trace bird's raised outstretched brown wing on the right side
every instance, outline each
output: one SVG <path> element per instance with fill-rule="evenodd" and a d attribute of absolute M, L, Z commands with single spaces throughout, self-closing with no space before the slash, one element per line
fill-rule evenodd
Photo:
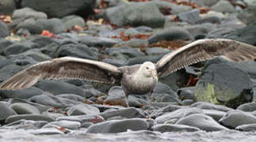
<path fill-rule="evenodd" d="M 232 62 L 256 58 L 256 47 L 231 39 L 200 39 L 166 54 L 156 63 L 158 76 L 165 77 L 193 63 L 222 56 Z"/>

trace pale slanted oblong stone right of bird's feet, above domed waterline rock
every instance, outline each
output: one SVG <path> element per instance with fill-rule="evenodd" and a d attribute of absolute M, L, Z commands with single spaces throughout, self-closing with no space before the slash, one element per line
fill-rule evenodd
<path fill-rule="evenodd" d="M 158 124 L 167 123 L 167 124 L 174 124 L 181 118 L 185 118 L 191 114 L 202 114 L 203 110 L 192 107 L 192 108 L 181 108 L 178 110 L 174 110 L 172 112 L 162 114 L 161 116 L 155 118 L 155 121 Z"/>

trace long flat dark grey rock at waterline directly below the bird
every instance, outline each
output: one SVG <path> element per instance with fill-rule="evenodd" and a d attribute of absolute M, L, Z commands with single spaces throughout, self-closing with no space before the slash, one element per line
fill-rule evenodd
<path fill-rule="evenodd" d="M 121 125 L 121 127 L 120 127 Z M 91 125 L 86 133 L 122 133 L 128 129 L 132 131 L 146 130 L 149 125 L 143 119 L 132 118 L 125 120 L 112 120 Z"/>

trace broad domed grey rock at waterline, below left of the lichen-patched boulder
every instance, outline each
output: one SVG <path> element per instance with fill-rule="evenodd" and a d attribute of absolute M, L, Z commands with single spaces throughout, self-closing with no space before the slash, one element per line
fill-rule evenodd
<path fill-rule="evenodd" d="M 185 118 L 181 118 L 176 122 L 176 124 L 197 127 L 207 132 L 227 129 L 205 114 L 191 114 Z"/>

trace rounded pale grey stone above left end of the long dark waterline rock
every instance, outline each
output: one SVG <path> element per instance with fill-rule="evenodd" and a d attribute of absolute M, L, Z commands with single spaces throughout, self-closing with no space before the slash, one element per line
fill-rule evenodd
<path fill-rule="evenodd" d="M 97 109 L 97 107 L 92 107 L 87 104 L 79 104 L 74 107 L 71 107 L 67 110 L 67 115 L 95 115 L 99 114 L 100 110 Z"/>

